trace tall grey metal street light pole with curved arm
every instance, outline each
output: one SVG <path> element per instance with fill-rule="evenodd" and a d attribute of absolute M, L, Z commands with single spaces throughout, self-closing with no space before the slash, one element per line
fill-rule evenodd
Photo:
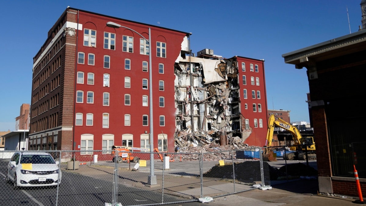
<path fill-rule="evenodd" d="M 152 83 L 152 55 L 151 55 L 151 29 L 149 27 L 149 40 L 142 36 L 142 34 L 136 32 L 135 30 L 128 28 L 126 26 L 122 26 L 118 23 L 107 22 L 107 26 L 113 28 L 123 27 L 131 30 L 132 32 L 137 33 L 141 36 L 145 41 L 149 43 L 149 116 L 150 116 L 150 133 L 149 133 L 149 141 L 150 141 L 150 176 L 147 178 L 148 185 L 156 185 L 156 176 L 154 175 L 154 135 L 153 135 L 153 83 Z"/>

